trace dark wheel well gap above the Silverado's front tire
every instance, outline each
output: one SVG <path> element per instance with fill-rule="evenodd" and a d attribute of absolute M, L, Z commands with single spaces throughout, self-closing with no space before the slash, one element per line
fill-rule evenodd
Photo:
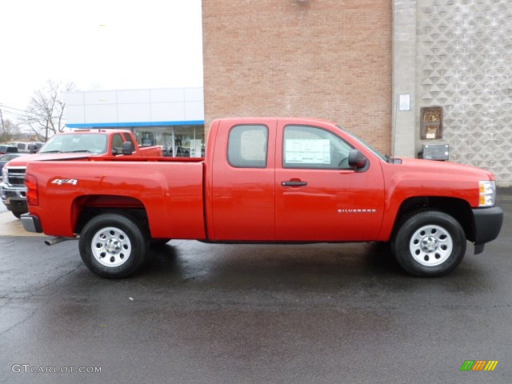
<path fill-rule="evenodd" d="M 451 197 L 413 197 L 402 203 L 398 210 L 397 218 L 406 218 L 413 212 L 424 209 L 439 210 L 452 216 L 464 229 L 466 238 L 470 241 L 475 239 L 473 214 L 471 206 L 467 201 Z"/>

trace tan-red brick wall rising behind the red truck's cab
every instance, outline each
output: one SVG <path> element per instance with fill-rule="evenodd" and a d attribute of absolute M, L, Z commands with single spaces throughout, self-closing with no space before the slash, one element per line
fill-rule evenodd
<path fill-rule="evenodd" d="M 305 116 L 391 150 L 391 0 L 203 0 L 205 123 Z"/>

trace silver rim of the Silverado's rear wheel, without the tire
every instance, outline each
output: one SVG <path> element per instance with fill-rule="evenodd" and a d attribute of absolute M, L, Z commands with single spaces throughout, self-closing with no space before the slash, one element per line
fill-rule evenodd
<path fill-rule="evenodd" d="M 115 268 L 130 259 L 132 243 L 121 229 L 105 227 L 94 234 L 91 250 L 98 263 L 105 267 Z"/>

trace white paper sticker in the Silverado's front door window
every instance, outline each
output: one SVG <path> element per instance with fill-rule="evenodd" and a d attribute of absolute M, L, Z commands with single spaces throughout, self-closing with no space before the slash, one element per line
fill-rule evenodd
<path fill-rule="evenodd" d="M 330 164 L 331 151 L 328 139 L 286 139 L 287 164 Z"/>

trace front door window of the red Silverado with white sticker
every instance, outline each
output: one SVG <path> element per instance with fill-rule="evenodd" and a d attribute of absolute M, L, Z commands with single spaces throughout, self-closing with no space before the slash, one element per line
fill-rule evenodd
<path fill-rule="evenodd" d="M 287 125 L 284 131 L 283 167 L 345 169 L 352 146 L 324 129 Z"/>

